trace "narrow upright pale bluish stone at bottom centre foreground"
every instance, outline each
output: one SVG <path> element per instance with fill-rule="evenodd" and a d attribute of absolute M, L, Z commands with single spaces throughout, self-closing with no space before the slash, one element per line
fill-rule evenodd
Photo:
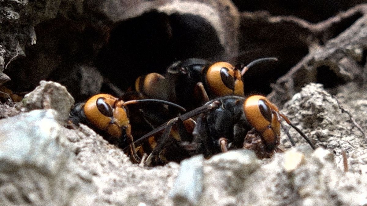
<path fill-rule="evenodd" d="M 181 162 L 181 169 L 170 196 L 175 205 L 197 205 L 203 190 L 204 156 L 198 155 Z"/>

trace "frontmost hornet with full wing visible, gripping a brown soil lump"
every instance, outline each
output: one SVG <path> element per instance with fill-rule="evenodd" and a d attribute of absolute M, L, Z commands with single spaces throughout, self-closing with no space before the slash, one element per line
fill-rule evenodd
<path fill-rule="evenodd" d="M 187 131 L 186 128 L 190 127 L 183 123 L 197 115 L 199 116 L 194 128 Z M 142 136 L 134 144 L 138 150 L 144 147 L 144 152 L 150 152 L 145 161 L 146 165 L 162 162 L 162 157 L 165 161 L 170 161 L 166 158 L 166 150 L 171 147 L 180 148 L 187 153 L 187 156 L 204 154 L 207 158 L 228 149 L 249 148 L 255 150 L 259 158 L 268 158 L 274 152 L 281 151 L 278 148 L 281 127 L 291 140 L 287 129 L 281 124 L 282 118 L 315 149 L 308 137 L 281 114 L 273 103 L 261 95 L 247 98 L 225 96 L 211 100 L 204 106 L 171 119 Z M 175 130 L 178 132 L 175 132 L 179 135 L 171 134 L 173 126 L 177 127 Z M 157 133 L 162 134 L 157 137 Z M 124 149 L 125 152 L 128 152 L 127 148 Z"/>

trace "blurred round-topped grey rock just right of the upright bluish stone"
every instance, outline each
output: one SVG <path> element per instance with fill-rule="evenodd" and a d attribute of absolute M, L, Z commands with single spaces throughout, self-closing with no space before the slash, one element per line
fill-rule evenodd
<path fill-rule="evenodd" d="M 246 187 L 260 161 L 250 150 L 214 155 L 204 164 L 204 187 L 199 205 L 236 205 L 236 194 Z"/>

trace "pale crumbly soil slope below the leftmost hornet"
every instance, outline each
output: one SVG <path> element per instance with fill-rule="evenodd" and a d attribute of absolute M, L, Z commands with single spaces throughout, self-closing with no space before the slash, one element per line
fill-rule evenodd
<path fill-rule="evenodd" d="M 76 154 L 77 173 L 97 185 L 85 196 L 75 196 L 72 204 L 172 205 L 169 190 L 178 174 L 177 163 L 155 168 L 132 164 L 120 148 L 109 144 L 87 126 L 63 129 L 61 144 Z"/>

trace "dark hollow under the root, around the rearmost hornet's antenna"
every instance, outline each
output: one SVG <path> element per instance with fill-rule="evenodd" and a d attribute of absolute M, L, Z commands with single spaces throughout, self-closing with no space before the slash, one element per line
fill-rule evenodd
<path fill-rule="evenodd" d="M 244 78 L 245 93 L 268 94 L 271 83 L 287 73 L 308 54 L 308 45 L 302 41 L 302 35 L 308 31 L 292 22 L 271 24 L 261 19 L 248 24 L 244 16 L 240 27 L 240 54 L 245 52 L 244 63 L 264 57 L 276 57 L 276 63 L 258 65 L 248 70 Z M 241 60 L 240 60 L 241 61 Z"/>

